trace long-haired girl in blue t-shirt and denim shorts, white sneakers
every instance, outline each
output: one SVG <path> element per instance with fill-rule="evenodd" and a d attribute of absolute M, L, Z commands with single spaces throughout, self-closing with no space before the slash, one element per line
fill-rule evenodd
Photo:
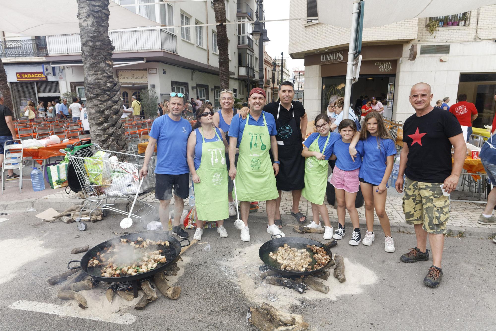
<path fill-rule="evenodd" d="M 367 233 L 362 244 L 371 246 L 375 240 L 373 233 L 373 210 L 375 207 L 375 213 L 385 235 L 384 250 L 392 253 L 395 248 L 385 208 L 387 181 L 393 168 L 396 146 L 379 113 L 367 114 L 364 125 L 365 130 L 362 130 L 360 134 L 360 141 L 364 144 L 362 154 L 364 159 L 359 178 L 365 200 Z M 353 148 L 353 144 L 351 144 L 351 148 Z"/>

